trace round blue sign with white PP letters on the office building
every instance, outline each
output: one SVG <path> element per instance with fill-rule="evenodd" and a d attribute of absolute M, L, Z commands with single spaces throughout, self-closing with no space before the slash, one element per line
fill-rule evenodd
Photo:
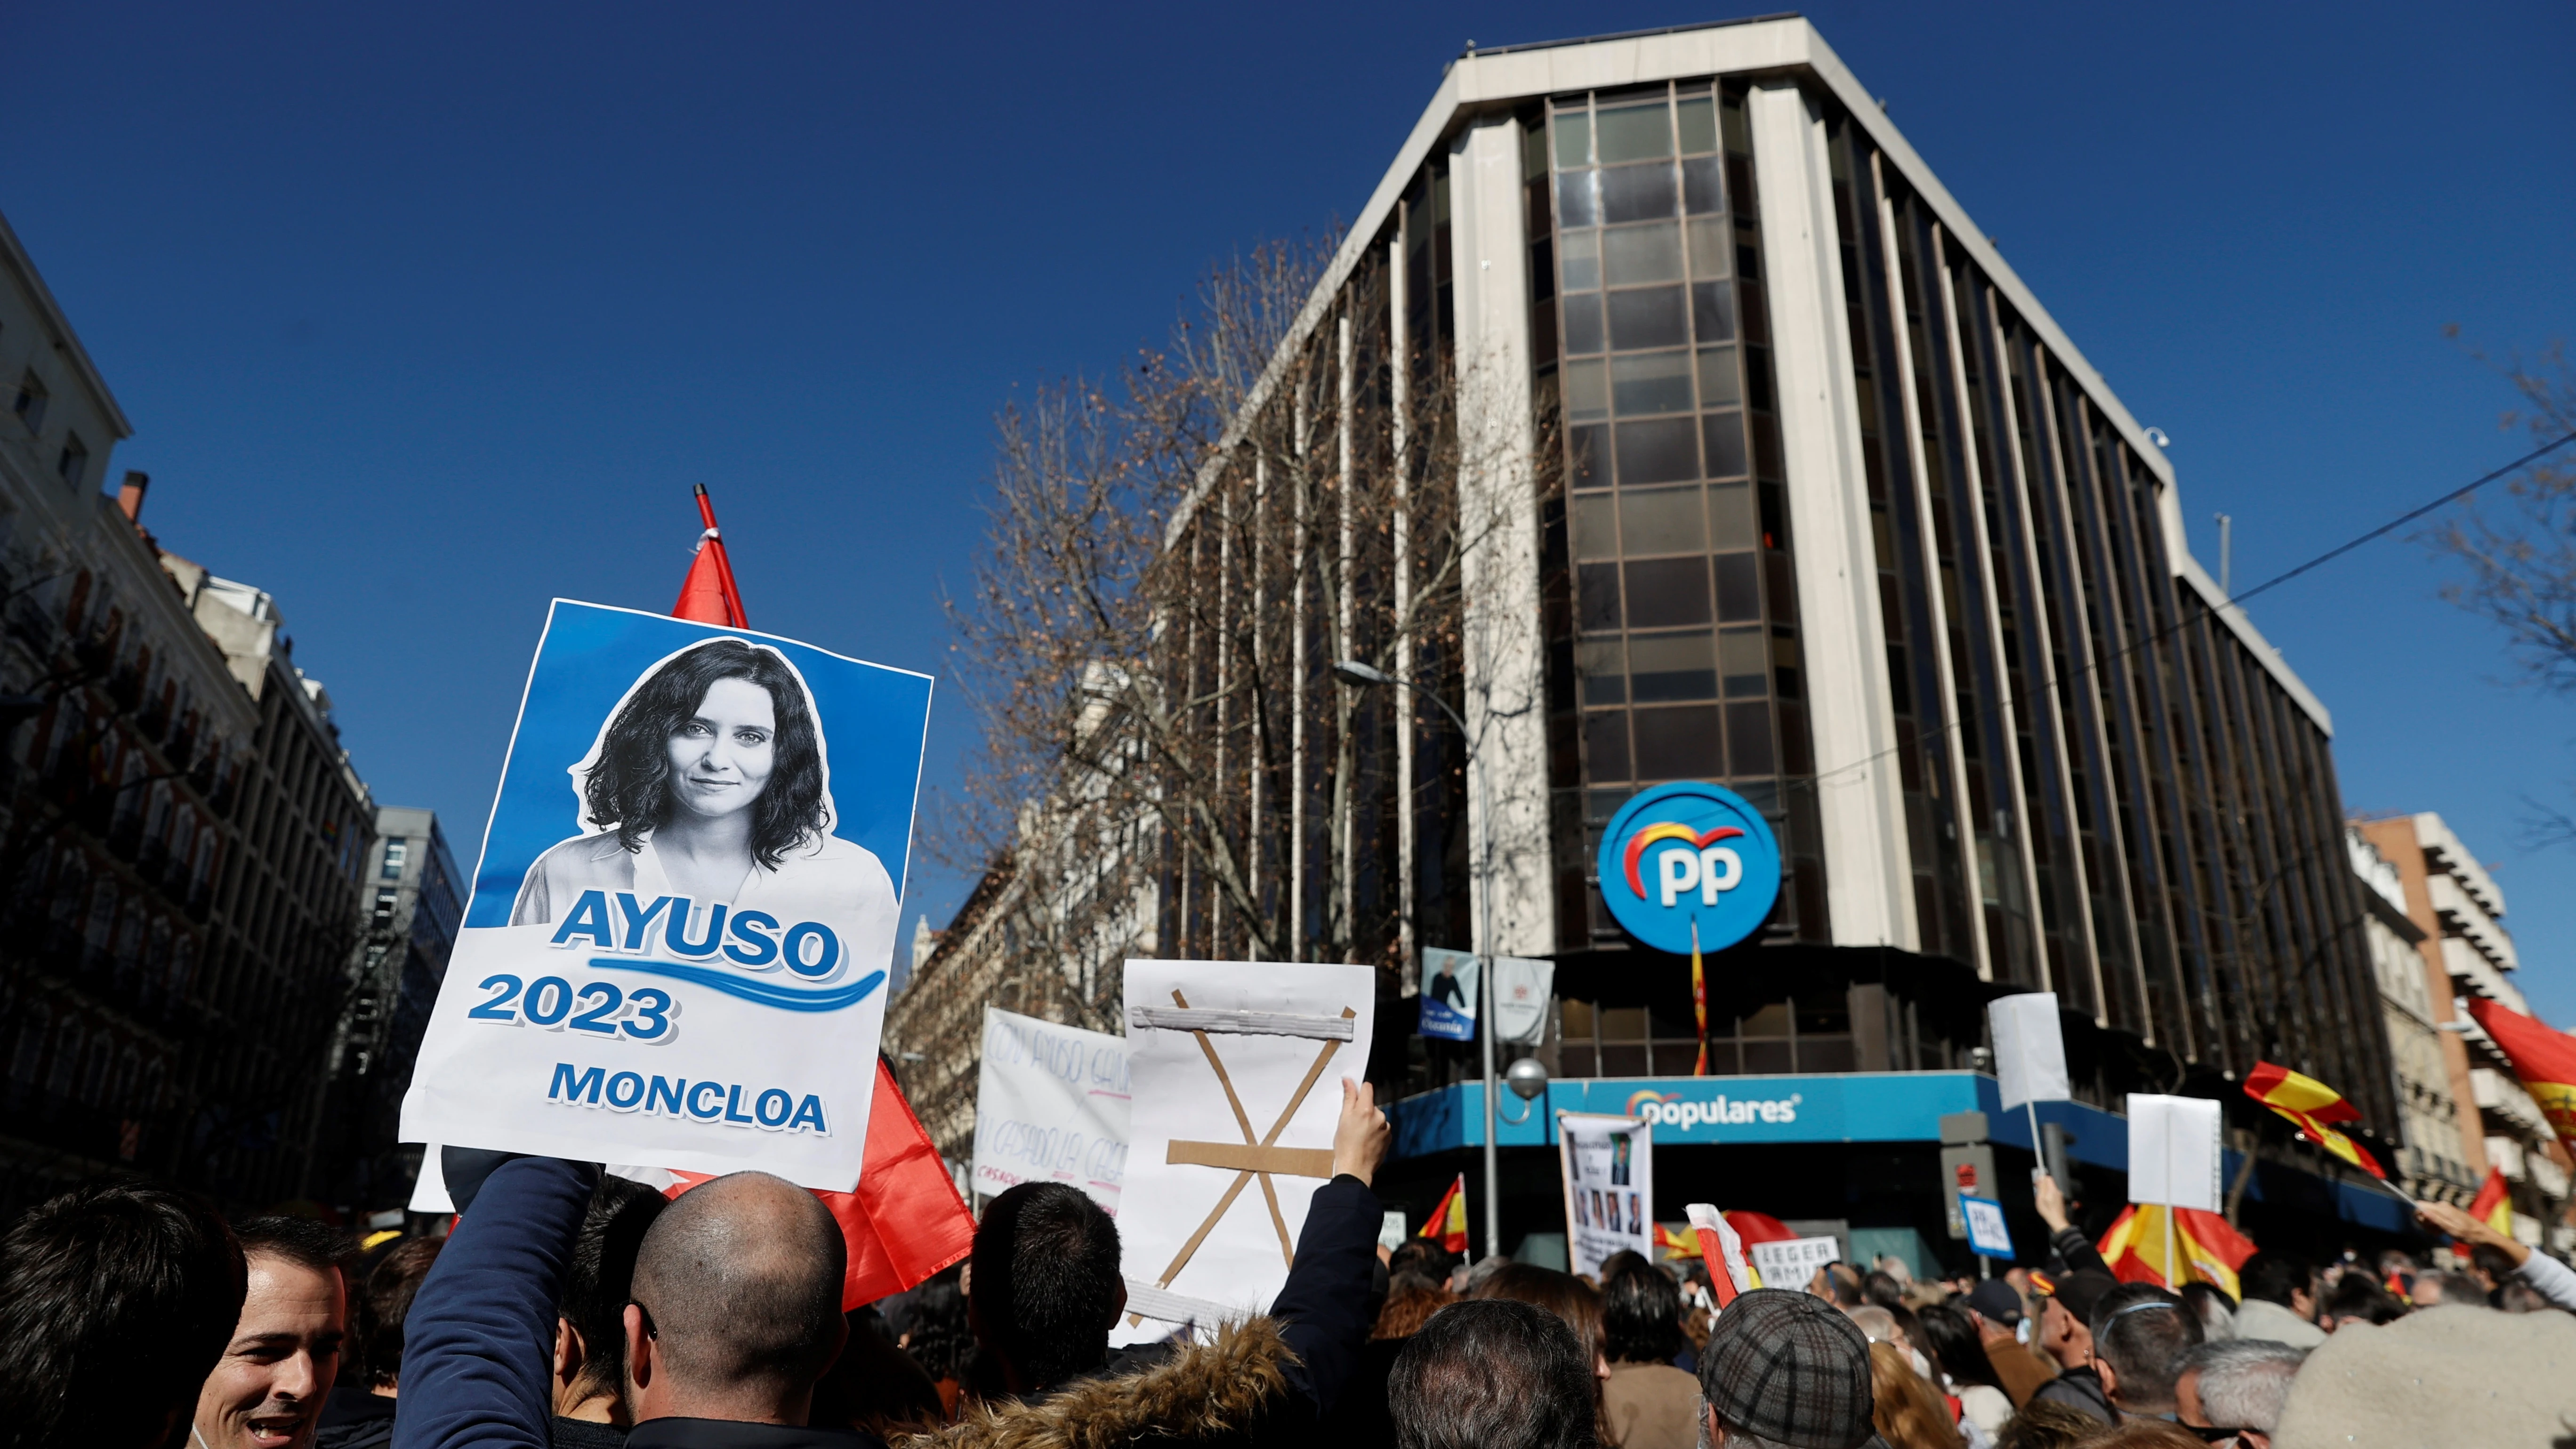
<path fill-rule="evenodd" d="M 1752 936 L 1780 895 L 1780 841 L 1723 784 L 1641 789 L 1602 833 L 1602 900 L 1656 951 L 1716 951 Z"/>

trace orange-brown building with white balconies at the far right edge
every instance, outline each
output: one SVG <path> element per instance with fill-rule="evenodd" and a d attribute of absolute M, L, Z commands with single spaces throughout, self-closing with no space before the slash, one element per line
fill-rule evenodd
<path fill-rule="evenodd" d="M 2568 1152 L 2514 1078 L 2514 1065 L 2470 1021 L 2465 998 L 2486 998 L 2530 1013 L 2514 972 L 2514 938 L 2504 931 L 2504 890 L 2439 815 L 2396 815 L 2354 825 L 2398 871 L 2406 918 L 2419 931 L 2427 998 L 2442 1034 L 2450 1098 L 2458 1106 L 2460 1155 L 2470 1181 L 2504 1168 L 2514 1194 L 2514 1235 L 2576 1248 L 2568 1230 Z"/>

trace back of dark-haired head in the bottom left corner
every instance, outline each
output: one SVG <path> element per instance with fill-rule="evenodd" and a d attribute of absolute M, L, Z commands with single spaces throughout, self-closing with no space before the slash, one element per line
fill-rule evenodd
<path fill-rule="evenodd" d="M 0 1235 L 0 1444 L 185 1441 L 242 1287 L 240 1243 L 196 1196 L 113 1183 L 28 1209 Z"/>

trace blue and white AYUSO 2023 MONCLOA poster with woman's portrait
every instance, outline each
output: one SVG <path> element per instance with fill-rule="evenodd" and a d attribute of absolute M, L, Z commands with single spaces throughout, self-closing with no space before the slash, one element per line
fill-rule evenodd
<path fill-rule="evenodd" d="M 930 678 L 554 601 L 404 1142 L 848 1191 Z"/>

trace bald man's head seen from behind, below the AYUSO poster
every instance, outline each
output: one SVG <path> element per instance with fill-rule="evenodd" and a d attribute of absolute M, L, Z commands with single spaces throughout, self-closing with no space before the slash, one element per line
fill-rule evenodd
<path fill-rule="evenodd" d="M 680 1194 L 636 1253 L 634 1302 L 675 1387 L 814 1385 L 840 1348 L 840 1225 L 806 1189 L 734 1173 Z"/>

